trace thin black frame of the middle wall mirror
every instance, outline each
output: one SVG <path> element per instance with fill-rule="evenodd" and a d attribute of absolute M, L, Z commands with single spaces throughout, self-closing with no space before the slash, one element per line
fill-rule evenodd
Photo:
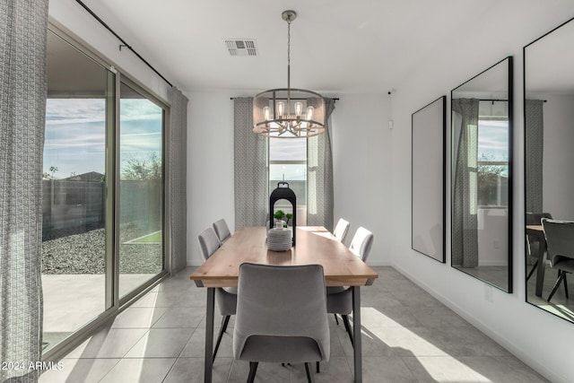
<path fill-rule="evenodd" d="M 512 279 L 512 268 L 513 268 L 513 257 L 512 257 L 512 227 L 513 227 L 513 222 L 512 222 L 512 213 L 513 213 L 513 185 L 514 185 L 514 70 L 513 70 L 513 57 L 509 56 L 509 57 L 504 57 L 503 59 L 501 59 L 499 62 L 497 62 L 494 65 L 489 66 L 488 68 L 484 69 L 481 73 L 474 75 L 472 78 L 468 79 L 467 81 L 465 81 L 465 83 L 469 83 L 470 81 L 474 80 L 476 77 L 480 76 L 481 74 L 485 74 L 486 72 L 488 72 L 489 70 L 491 70 L 491 68 L 495 67 L 496 65 L 499 65 L 501 63 L 503 63 L 504 61 L 508 60 L 508 91 L 509 91 L 509 97 L 508 97 L 508 102 L 509 102 L 509 213 L 508 213 L 508 217 L 509 217 L 509 227 L 508 227 L 508 232 L 507 232 L 507 236 L 508 236 L 508 243 L 509 243 L 509 248 L 508 248 L 508 286 L 506 289 L 504 289 L 503 287 L 495 284 L 495 283 L 491 283 L 490 281 L 487 281 L 483 278 L 479 278 L 478 276 L 475 276 L 473 274 L 469 274 L 466 273 L 465 270 L 461 269 L 461 268 L 457 268 L 454 265 L 452 265 L 452 240 L 453 240 L 453 228 L 454 225 L 452 224 L 452 222 L 454 221 L 454 212 L 452 209 L 452 205 L 453 205 L 453 187 L 454 187 L 454 182 L 452 179 L 452 171 L 453 171 L 453 152 L 451 150 L 451 155 L 450 155 L 450 177 L 451 177 L 451 181 L 450 181 L 450 246 L 451 246 L 451 251 L 450 251 L 450 257 L 451 257 L 451 262 L 450 265 L 451 267 L 457 269 L 460 272 L 463 272 L 465 274 L 468 274 L 470 276 L 473 276 L 474 278 L 483 281 L 483 283 L 487 283 L 490 284 L 492 287 L 495 287 L 503 292 L 508 292 L 508 293 L 512 293 L 513 292 L 513 279 Z M 453 100 L 453 92 L 456 91 L 458 88 L 460 88 L 461 86 L 463 86 L 465 83 L 461 83 L 460 85 L 458 85 L 456 88 L 454 88 L 453 90 L 450 91 L 450 115 L 451 115 L 451 126 L 449 129 L 449 135 L 450 135 L 450 145 L 451 145 L 451 149 L 452 149 L 452 145 L 453 145 L 453 129 L 452 129 L 452 100 Z"/>

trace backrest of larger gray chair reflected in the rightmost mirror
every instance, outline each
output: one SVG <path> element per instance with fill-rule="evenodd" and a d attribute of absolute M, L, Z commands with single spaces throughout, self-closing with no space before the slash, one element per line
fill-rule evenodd
<path fill-rule="evenodd" d="M 574 259 L 574 222 L 543 218 L 542 226 L 552 267 Z"/>

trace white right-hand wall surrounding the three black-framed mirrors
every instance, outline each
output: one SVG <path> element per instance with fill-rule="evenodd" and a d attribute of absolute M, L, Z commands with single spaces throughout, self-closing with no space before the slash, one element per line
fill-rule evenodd
<path fill-rule="evenodd" d="M 524 118 L 522 48 L 574 16 L 574 3 L 530 1 L 519 9 L 499 2 L 491 15 L 480 20 L 489 28 L 460 30 L 445 41 L 418 69 L 398 85 L 392 100 L 395 129 L 392 136 L 393 241 L 392 264 L 431 292 L 487 335 L 544 374 L 552 382 L 574 381 L 569 361 L 574 344 L 574 325 L 525 302 L 524 265 Z M 448 15 L 445 15 L 448 17 Z M 462 28 L 462 26 L 461 26 Z M 424 257 L 411 249 L 410 145 L 411 114 L 431 100 L 495 64 L 514 56 L 514 161 L 515 188 L 512 214 L 514 293 L 487 286 L 467 274 Z M 448 107 L 448 126 L 450 121 Z M 449 176 L 448 176 L 449 178 Z M 449 181 L 449 179 L 448 179 Z M 449 202 L 448 202 L 449 204 Z M 448 209 L 448 216 L 450 211 Z M 449 231 L 449 220 L 448 220 Z M 448 232 L 447 231 L 447 232 Z M 450 237 L 447 237 L 448 243 Z M 380 275 L 384 278 L 385 275 Z M 492 301 L 486 299 L 492 293 Z"/>

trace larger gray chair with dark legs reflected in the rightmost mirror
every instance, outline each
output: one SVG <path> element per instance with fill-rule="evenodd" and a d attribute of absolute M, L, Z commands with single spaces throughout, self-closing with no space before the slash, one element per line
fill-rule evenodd
<path fill-rule="evenodd" d="M 568 299 L 566 273 L 574 273 L 574 222 L 543 218 L 542 226 L 544 237 L 546 237 L 550 265 L 552 268 L 558 269 L 558 278 L 548 296 L 548 301 L 552 300 L 554 292 L 558 290 L 562 281 L 564 282 L 566 299 Z"/>

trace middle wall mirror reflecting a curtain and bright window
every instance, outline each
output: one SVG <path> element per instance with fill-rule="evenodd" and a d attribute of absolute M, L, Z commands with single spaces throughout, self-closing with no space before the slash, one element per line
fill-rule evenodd
<path fill-rule="evenodd" d="M 451 92 L 451 265 L 512 292 L 512 57 Z"/>

